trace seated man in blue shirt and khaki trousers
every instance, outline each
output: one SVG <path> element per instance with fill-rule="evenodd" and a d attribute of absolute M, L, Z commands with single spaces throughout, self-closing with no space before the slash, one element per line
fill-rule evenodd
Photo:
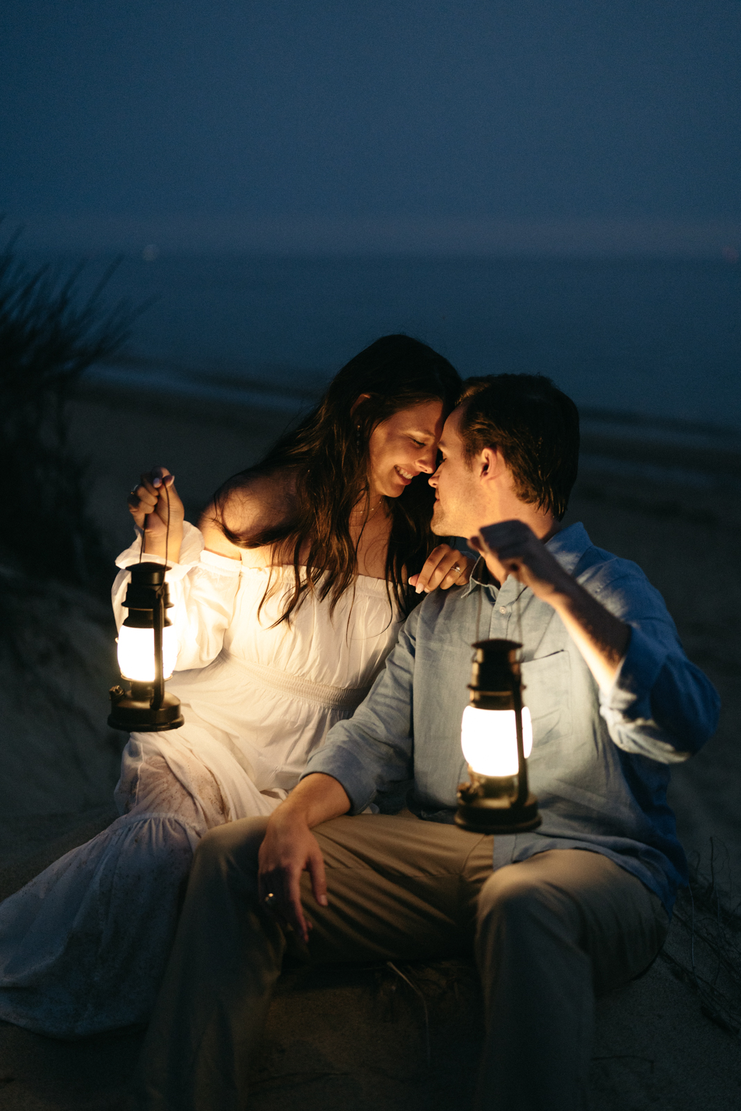
<path fill-rule="evenodd" d="M 582 526 L 561 529 L 578 447 L 575 407 L 548 379 L 469 383 L 430 479 L 433 528 L 471 537 L 482 558 L 467 587 L 412 612 L 367 700 L 270 820 L 203 839 L 143 1107 L 249 1107 L 287 938 L 312 961 L 473 948 L 487 1019 L 477 1105 L 587 1105 L 594 992 L 661 948 L 687 877 L 669 765 L 711 735 L 718 697 L 640 569 Z M 542 825 L 492 838 L 452 820 L 470 644 L 497 637 L 522 642 Z"/>

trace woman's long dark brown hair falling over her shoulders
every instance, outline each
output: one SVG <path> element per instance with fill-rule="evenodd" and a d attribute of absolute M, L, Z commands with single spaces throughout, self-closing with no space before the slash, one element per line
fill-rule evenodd
<path fill-rule="evenodd" d="M 293 564 L 293 591 L 280 621 L 290 621 L 308 593 L 321 601 L 329 597 L 333 612 L 354 584 L 358 556 L 350 514 L 363 498 L 369 504 L 373 429 L 401 409 L 425 401 L 442 401 L 444 418 L 461 389 L 458 371 L 427 343 L 409 336 L 383 336 L 340 370 L 317 408 L 259 463 L 234 474 L 217 491 L 216 521 L 233 544 L 273 544 L 284 553 L 281 561 Z M 356 404 L 362 394 L 368 398 Z M 289 469 L 296 474 L 296 509 L 290 520 L 260 533 L 227 527 L 224 508 L 232 493 L 252 478 Z M 420 600 L 407 585 L 405 575 L 421 570 L 434 547 L 430 528 L 434 492 L 428 477 L 419 474 L 399 498 L 383 499 L 391 514 L 385 560 L 389 600 L 404 615 Z"/>

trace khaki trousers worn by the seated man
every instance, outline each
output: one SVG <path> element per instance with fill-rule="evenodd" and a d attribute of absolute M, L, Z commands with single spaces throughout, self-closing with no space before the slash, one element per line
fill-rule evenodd
<path fill-rule="evenodd" d="M 243 1111 L 287 941 L 257 895 L 267 819 L 209 831 L 196 853 L 140 1065 L 147 1111 Z M 477 1108 L 588 1107 L 595 991 L 653 960 L 667 914 L 605 857 L 548 851 L 492 871 L 493 839 L 409 813 L 314 829 L 329 907 L 307 873 L 313 962 L 427 959 L 473 950 L 487 1039 Z"/>

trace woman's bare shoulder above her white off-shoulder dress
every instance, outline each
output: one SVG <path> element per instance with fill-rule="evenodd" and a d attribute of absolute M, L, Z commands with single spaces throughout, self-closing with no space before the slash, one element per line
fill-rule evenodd
<path fill-rule="evenodd" d="M 199 527 L 207 549 L 219 554 L 241 558 L 241 546 L 229 540 L 226 529 L 249 542 L 280 528 L 292 513 L 296 476 L 292 471 L 272 474 L 246 474 L 229 479 L 220 496 L 203 510 Z"/>

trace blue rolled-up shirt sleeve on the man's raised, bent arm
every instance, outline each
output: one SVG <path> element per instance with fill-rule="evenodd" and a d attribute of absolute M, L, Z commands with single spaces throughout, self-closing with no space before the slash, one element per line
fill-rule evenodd
<path fill-rule="evenodd" d="M 642 574 L 593 592 L 631 629 L 614 682 L 599 692 L 612 740 L 660 763 L 688 760 L 718 728 L 715 688 L 688 660 L 663 599 Z"/>

